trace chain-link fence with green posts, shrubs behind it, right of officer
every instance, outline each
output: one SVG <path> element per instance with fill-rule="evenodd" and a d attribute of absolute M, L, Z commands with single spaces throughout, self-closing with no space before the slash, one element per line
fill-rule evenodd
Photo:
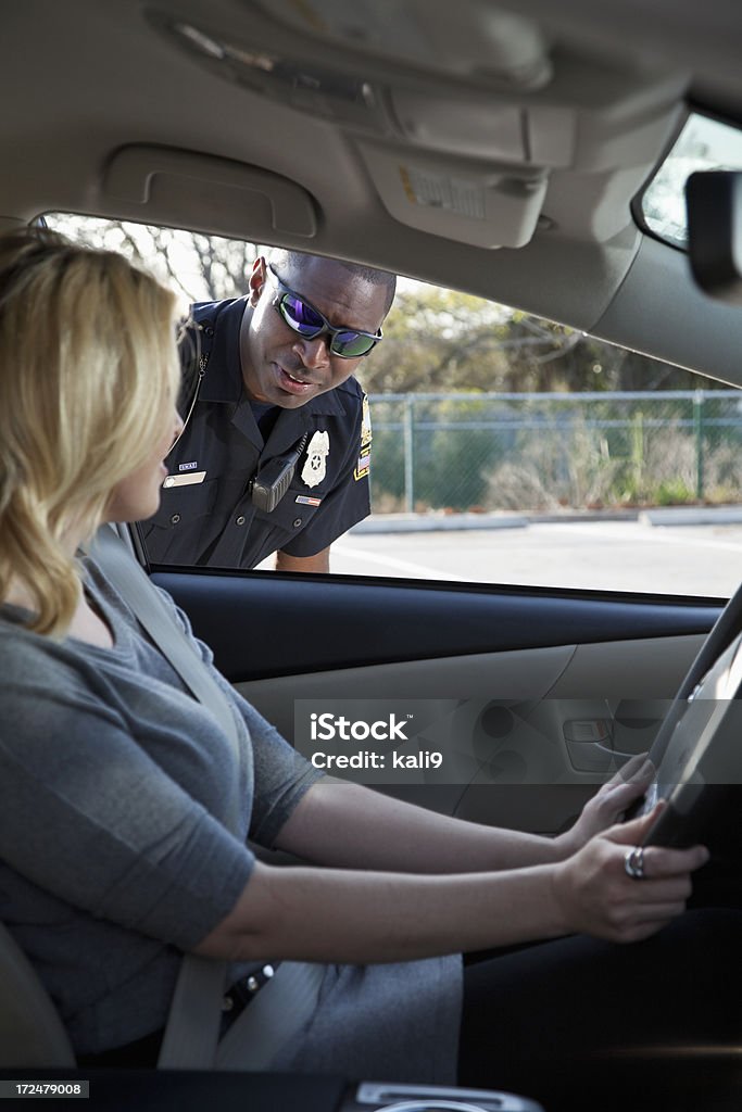
<path fill-rule="evenodd" d="M 742 502 L 742 391 L 370 398 L 376 513 Z"/>

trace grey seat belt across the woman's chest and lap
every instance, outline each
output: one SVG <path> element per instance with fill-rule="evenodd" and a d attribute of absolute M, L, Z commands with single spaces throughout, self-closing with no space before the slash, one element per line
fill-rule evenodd
<path fill-rule="evenodd" d="M 115 530 L 102 525 L 87 549 L 126 599 L 137 620 L 195 697 L 207 706 L 239 751 L 234 714 L 219 685 L 167 608 L 149 576 Z M 230 827 L 239 801 L 233 798 Z M 267 1066 L 314 1013 L 324 965 L 281 962 L 280 969 L 231 1025 L 217 1052 L 227 962 L 184 954 L 158 1069 L 258 1070 Z"/>

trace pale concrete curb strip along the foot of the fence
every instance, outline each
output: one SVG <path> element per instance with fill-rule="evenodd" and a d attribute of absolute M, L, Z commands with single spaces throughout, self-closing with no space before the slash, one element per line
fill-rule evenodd
<path fill-rule="evenodd" d="M 530 525 L 637 522 L 650 528 L 677 525 L 739 525 L 742 506 L 666 506 L 656 509 L 565 510 L 556 514 L 374 514 L 348 533 L 454 533 L 468 529 L 525 529 Z"/>

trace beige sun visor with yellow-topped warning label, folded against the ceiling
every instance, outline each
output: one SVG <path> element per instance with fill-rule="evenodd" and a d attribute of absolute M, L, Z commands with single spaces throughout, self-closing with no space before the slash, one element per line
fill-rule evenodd
<path fill-rule="evenodd" d="M 477 247 L 531 241 L 546 196 L 544 170 L 496 168 L 368 141 L 359 141 L 358 150 L 400 224 Z"/>

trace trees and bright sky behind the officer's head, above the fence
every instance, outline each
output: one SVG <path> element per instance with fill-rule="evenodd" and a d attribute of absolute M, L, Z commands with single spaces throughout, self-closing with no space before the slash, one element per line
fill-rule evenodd
<path fill-rule="evenodd" d="M 126 220 L 58 214 L 47 222 L 93 247 L 121 251 L 178 290 L 184 302 L 241 296 L 254 259 L 267 250 L 238 239 Z M 362 368 L 364 386 L 373 393 L 720 385 L 562 325 L 423 284 L 400 290 L 384 332 L 384 344 Z"/>

